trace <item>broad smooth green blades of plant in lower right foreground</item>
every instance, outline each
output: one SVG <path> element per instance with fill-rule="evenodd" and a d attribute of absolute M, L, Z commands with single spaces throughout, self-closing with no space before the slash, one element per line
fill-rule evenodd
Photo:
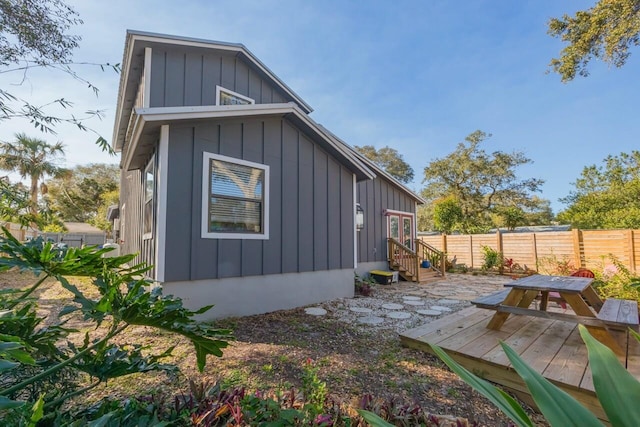
<path fill-rule="evenodd" d="M 609 422 L 613 426 L 637 425 L 637 421 L 640 420 L 640 406 L 637 402 L 637 397 L 640 396 L 640 382 L 627 372 L 607 346 L 593 338 L 584 326 L 578 327 L 589 352 L 589 366 L 596 394 Z M 640 340 L 640 335 L 633 331 L 632 334 Z M 525 382 L 536 405 L 552 426 L 602 426 L 593 413 L 529 367 L 508 345 L 503 342 L 500 345 L 515 371 Z M 533 426 L 531 419 L 511 396 L 460 366 L 440 347 L 434 344 L 431 347 L 453 372 L 491 400 L 518 426 Z"/>

